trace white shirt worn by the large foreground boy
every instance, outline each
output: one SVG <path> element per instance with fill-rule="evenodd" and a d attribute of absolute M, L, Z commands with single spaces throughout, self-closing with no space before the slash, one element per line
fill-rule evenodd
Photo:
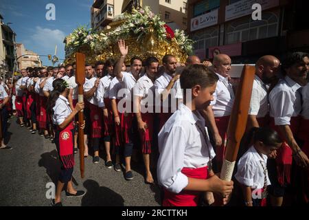
<path fill-rule="evenodd" d="M 197 124 L 200 129 L 205 129 L 204 134 Z M 188 184 L 188 177 L 181 173 L 183 168 L 205 167 L 209 158 L 215 157 L 203 116 L 192 112 L 184 104 L 180 104 L 179 109 L 164 124 L 158 137 L 159 184 L 172 192 L 179 193 Z"/>

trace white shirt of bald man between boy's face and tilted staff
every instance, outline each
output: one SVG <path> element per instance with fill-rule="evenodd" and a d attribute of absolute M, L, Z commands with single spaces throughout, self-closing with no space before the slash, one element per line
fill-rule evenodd
<path fill-rule="evenodd" d="M 214 100 L 211 102 L 212 110 L 215 117 L 228 116 L 231 115 L 233 109 L 235 94 L 229 80 L 220 74 L 217 74 L 217 76 L 219 80 L 214 93 Z"/>

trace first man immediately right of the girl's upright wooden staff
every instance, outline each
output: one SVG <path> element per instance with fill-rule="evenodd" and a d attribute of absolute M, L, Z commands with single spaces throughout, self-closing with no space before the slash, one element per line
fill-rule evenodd
<path fill-rule="evenodd" d="M 102 137 L 102 113 L 98 107 L 98 102 L 95 98 L 100 78 L 93 76 L 94 70 L 91 65 L 85 66 L 86 80 L 84 83 L 84 98 L 86 114 L 86 128 L 85 134 L 91 135 L 91 146 L 93 147 L 93 163 L 99 163 L 99 147 L 100 139 Z M 90 138 L 89 138 L 90 139 Z M 85 148 L 86 150 L 86 148 Z M 88 152 L 86 152 L 88 153 Z"/>

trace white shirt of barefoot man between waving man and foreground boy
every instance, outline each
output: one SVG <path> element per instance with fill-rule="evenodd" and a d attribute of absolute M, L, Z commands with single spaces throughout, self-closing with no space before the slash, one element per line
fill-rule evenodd
<path fill-rule="evenodd" d="M 137 80 L 133 94 L 142 98 L 141 106 L 145 107 L 146 104 L 148 107 L 155 106 L 155 85 L 147 74 Z"/>

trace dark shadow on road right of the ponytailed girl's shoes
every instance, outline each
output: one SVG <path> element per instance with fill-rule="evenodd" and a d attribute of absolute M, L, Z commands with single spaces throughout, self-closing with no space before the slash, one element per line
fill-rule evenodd
<path fill-rule="evenodd" d="M 82 206 L 124 206 L 124 198 L 113 190 L 99 186 L 98 182 L 87 179 L 84 181 L 86 195 L 82 197 Z"/>

